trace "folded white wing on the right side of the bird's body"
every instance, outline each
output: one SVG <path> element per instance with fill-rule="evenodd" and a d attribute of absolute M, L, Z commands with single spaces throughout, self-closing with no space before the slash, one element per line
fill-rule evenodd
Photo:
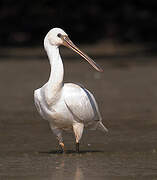
<path fill-rule="evenodd" d="M 65 92 L 64 101 L 76 120 L 83 122 L 101 120 L 95 98 L 87 89 L 68 83 Z"/>

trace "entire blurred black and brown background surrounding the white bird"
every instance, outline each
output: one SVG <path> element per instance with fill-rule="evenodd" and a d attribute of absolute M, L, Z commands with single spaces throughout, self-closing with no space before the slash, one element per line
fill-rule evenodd
<path fill-rule="evenodd" d="M 0 179 L 157 179 L 156 8 L 155 0 L 0 1 Z M 78 155 L 69 133 L 69 153 L 59 154 L 34 106 L 50 73 L 43 40 L 53 27 L 104 69 L 61 48 L 64 81 L 94 94 L 109 129 L 85 130 Z"/>

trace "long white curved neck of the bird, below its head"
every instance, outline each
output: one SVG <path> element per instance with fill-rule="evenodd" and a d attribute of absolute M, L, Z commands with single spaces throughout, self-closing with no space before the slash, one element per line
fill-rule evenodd
<path fill-rule="evenodd" d="M 63 62 L 59 54 L 59 48 L 51 46 L 46 48 L 47 55 L 50 61 L 51 72 L 49 80 L 46 84 L 45 96 L 48 104 L 53 104 L 60 96 L 63 86 Z"/>

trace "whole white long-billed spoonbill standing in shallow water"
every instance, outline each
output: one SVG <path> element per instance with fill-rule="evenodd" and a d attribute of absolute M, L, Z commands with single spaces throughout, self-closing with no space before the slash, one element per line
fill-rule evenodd
<path fill-rule="evenodd" d="M 56 135 L 62 151 L 65 151 L 62 131 L 73 130 L 76 138 L 76 152 L 84 127 L 107 132 L 94 96 L 84 87 L 63 83 L 64 68 L 59 54 L 59 46 L 64 45 L 86 59 L 97 71 L 103 71 L 91 58 L 83 53 L 68 35 L 60 28 L 51 29 L 45 39 L 51 72 L 48 82 L 34 91 L 35 106 L 39 114 L 48 120 L 51 130 Z"/>

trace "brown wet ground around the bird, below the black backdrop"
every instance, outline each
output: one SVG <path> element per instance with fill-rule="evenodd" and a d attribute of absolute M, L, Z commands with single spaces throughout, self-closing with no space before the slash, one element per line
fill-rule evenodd
<path fill-rule="evenodd" d="M 73 56 L 64 58 L 65 82 L 93 92 L 109 132 L 85 130 L 80 154 L 65 133 L 61 154 L 33 103 L 48 79 L 46 56 L 1 56 L 0 179 L 157 179 L 157 58 L 98 56 L 100 74 Z"/>

